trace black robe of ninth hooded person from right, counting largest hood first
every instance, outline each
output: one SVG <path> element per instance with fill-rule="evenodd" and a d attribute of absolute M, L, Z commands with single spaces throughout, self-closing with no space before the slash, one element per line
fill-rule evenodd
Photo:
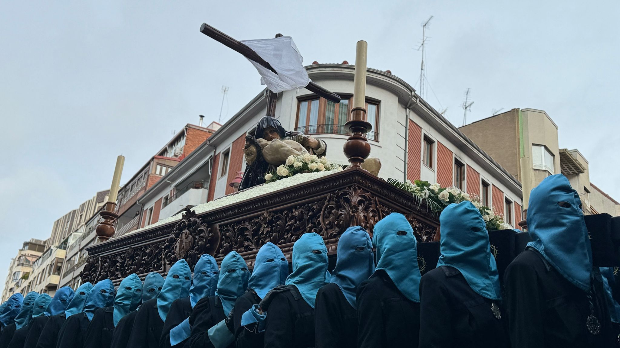
<path fill-rule="evenodd" d="M 131 348 L 159 348 L 159 339 L 164 329 L 164 321 L 159 317 L 157 311 L 157 298 L 142 303 L 136 320 L 133 322 L 133 329 L 129 336 L 128 347 Z"/>

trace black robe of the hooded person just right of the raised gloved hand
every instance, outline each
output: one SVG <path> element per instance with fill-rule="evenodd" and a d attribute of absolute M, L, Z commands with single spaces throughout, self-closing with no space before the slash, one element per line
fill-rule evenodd
<path fill-rule="evenodd" d="M 314 308 L 294 286 L 273 295 L 267 308 L 265 347 L 314 347 Z"/>

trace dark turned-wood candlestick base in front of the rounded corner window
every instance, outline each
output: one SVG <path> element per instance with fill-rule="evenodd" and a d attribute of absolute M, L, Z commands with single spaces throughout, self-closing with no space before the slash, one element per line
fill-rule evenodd
<path fill-rule="evenodd" d="M 366 133 L 373 129 L 373 126 L 364 121 L 366 118 L 365 108 L 353 108 L 351 110 L 351 121 L 345 123 L 345 129 L 350 131 L 352 135 L 348 137 L 342 150 L 347 156 L 351 167 L 361 167 L 361 163 L 370 155 L 370 144 L 366 139 Z"/>

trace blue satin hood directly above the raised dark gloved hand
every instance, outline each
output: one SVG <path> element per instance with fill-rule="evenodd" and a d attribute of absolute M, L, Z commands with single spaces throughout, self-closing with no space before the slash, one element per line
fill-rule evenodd
<path fill-rule="evenodd" d="M 286 282 L 286 276 L 288 276 L 288 261 L 284 253 L 268 241 L 256 254 L 254 270 L 247 287 L 254 290 L 260 298 L 265 298 L 267 292 Z"/>

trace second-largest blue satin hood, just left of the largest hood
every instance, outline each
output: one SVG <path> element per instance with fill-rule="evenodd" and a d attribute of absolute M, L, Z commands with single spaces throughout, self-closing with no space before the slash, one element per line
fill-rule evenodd
<path fill-rule="evenodd" d="M 441 256 L 439 266 L 459 270 L 476 294 L 502 298 L 495 258 L 491 254 L 489 233 L 480 211 L 469 201 L 450 204 L 441 212 Z"/>

